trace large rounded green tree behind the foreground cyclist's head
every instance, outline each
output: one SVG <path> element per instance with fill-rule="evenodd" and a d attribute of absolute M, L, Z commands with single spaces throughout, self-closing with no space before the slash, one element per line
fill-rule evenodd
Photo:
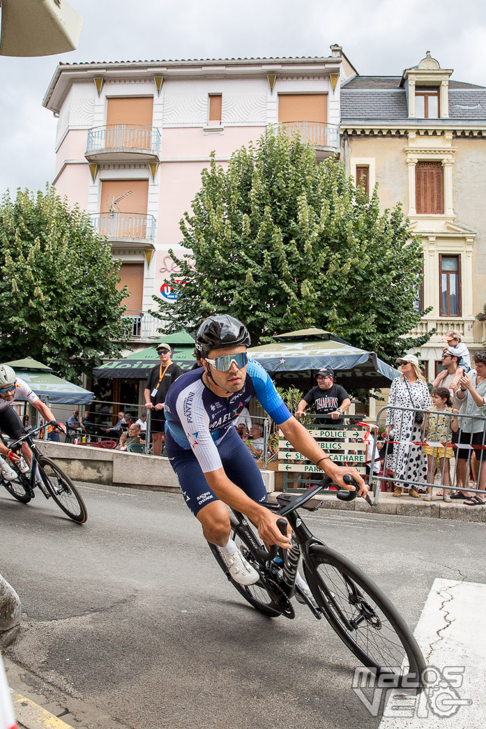
<path fill-rule="evenodd" d="M 316 326 L 393 361 L 428 339 L 407 335 L 424 313 L 422 247 L 407 223 L 400 206 L 380 212 L 377 190 L 368 199 L 335 160 L 317 164 L 311 145 L 270 130 L 226 171 L 214 156 L 203 170 L 181 220 L 190 252 L 171 252 L 179 296 L 154 297 L 160 317 L 178 330 L 230 313 L 254 344 Z"/>

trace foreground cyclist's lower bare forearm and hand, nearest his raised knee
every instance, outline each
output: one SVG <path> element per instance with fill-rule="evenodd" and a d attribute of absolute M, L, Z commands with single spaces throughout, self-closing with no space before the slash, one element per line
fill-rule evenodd
<path fill-rule="evenodd" d="M 246 496 L 235 483 L 232 483 L 223 468 L 205 473 L 205 479 L 208 486 L 214 491 L 216 496 L 228 504 L 228 506 L 242 512 L 248 517 L 258 529 L 259 535 L 266 544 L 276 544 L 281 547 L 290 547 L 290 537 L 283 537 L 277 526 L 278 515 L 273 514 L 258 502 L 254 502 L 249 496 Z M 288 533 L 291 533 L 289 526 Z"/>

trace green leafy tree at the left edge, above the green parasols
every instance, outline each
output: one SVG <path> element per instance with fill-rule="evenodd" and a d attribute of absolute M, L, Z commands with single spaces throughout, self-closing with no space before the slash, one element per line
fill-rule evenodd
<path fill-rule="evenodd" d="M 118 356 L 119 264 L 78 208 L 53 188 L 0 203 L 1 361 L 32 356 L 66 378 Z M 113 340 L 117 339 L 118 342 Z"/>

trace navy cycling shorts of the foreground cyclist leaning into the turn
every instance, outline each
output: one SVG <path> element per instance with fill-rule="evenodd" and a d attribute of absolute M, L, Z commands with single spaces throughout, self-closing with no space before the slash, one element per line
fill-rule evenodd
<path fill-rule="evenodd" d="M 167 432 L 165 449 L 179 479 L 179 486 L 186 499 L 186 504 L 195 516 L 203 507 L 211 502 L 219 501 L 216 494 L 213 494 L 209 488 L 194 453 L 184 451 L 177 445 L 170 432 Z M 224 472 L 230 481 L 239 486 L 250 499 L 256 502 L 266 502 L 267 489 L 264 486 L 262 474 L 235 428 L 224 436 L 218 446 L 218 452 Z"/>

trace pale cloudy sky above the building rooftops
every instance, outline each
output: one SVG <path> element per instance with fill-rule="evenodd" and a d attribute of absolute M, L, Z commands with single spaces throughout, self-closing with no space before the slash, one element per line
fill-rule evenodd
<path fill-rule="evenodd" d="M 430 50 L 452 79 L 486 85 L 483 0 L 69 0 L 83 15 L 77 50 L 0 56 L 0 194 L 52 181 L 55 125 L 42 98 L 60 61 L 329 55 L 361 74 L 399 75 Z"/>

